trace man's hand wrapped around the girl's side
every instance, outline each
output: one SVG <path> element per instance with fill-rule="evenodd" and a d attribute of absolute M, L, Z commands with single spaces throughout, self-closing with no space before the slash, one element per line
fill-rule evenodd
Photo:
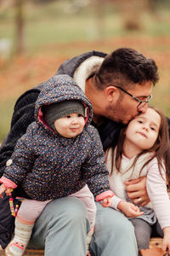
<path fill-rule="evenodd" d="M 150 199 L 146 191 L 146 176 L 125 182 L 127 195 L 135 205 L 144 207 Z"/>

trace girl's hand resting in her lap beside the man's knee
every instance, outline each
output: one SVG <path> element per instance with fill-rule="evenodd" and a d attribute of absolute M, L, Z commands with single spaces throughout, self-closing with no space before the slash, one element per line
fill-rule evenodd
<path fill-rule="evenodd" d="M 128 218 L 135 218 L 144 214 L 144 212 L 139 211 L 139 207 L 127 201 L 120 201 L 117 205 L 117 209 L 121 210 Z"/>

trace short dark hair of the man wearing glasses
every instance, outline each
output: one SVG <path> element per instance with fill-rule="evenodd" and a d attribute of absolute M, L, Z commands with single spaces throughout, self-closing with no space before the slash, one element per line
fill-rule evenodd
<path fill-rule="evenodd" d="M 147 59 L 135 49 L 120 48 L 106 55 L 96 74 L 96 86 L 103 90 L 109 85 L 118 85 L 125 89 L 130 84 L 143 84 L 159 80 L 156 62 Z"/>

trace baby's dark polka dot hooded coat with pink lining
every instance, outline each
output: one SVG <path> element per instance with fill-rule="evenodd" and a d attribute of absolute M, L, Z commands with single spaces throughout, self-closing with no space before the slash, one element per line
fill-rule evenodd
<path fill-rule="evenodd" d="M 105 154 L 98 131 L 90 125 L 93 109 L 87 96 L 67 75 L 55 75 L 43 84 L 35 107 L 36 121 L 28 126 L 12 154 L 3 177 L 21 184 L 31 199 L 46 201 L 71 195 L 87 183 L 94 196 L 109 190 Z M 61 137 L 43 119 L 45 104 L 81 101 L 88 109 L 80 135 Z"/>

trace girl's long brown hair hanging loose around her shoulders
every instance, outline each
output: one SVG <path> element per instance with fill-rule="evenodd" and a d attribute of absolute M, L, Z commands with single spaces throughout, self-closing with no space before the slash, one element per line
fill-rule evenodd
<path fill-rule="evenodd" d="M 166 174 L 167 174 L 167 183 L 168 183 L 168 185 L 170 185 L 170 170 L 169 170 L 170 169 L 170 143 L 169 143 L 167 118 L 164 116 L 164 114 L 161 112 L 160 109 L 155 108 L 155 107 L 148 107 L 148 108 L 154 109 L 156 111 L 156 113 L 158 113 L 161 117 L 161 125 L 159 128 L 158 137 L 156 139 L 156 143 L 154 143 L 154 145 L 150 149 L 145 149 L 142 152 L 140 152 L 139 154 L 137 154 L 136 158 L 133 161 L 133 165 L 131 167 L 135 166 L 137 160 L 139 159 L 139 157 L 142 154 L 150 152 L 151 153 L 150 159 L 144 163 L 144 166 L 148 165 L 149 162 L 156 157 L 156 159 L 158 161 L 158 167 L 159 167 L 160 173 L 161 173 L 161 168 L 163 167 L 163 165 L 165 166 Z M 120 172 L 120 170 L 121 170 L 123 144 L 124 144 L 124 140 L 126 137 L 126 134 L 125 134 L 126 129 L 127 129 L 127 125 L 122 128 L 122 130 L 120 131 L 116 145 L 114 144 L 112 147 L 111 173 L 113 172 L 114 163 L 116 166 L 116 170 L 118 172 Z M 109 150 L 109 148 L 106 150 L 106 159 L 107 159 L 108 150 Z M 142 171 L 144 166 L 142 166 L 140 172 Z"/>

